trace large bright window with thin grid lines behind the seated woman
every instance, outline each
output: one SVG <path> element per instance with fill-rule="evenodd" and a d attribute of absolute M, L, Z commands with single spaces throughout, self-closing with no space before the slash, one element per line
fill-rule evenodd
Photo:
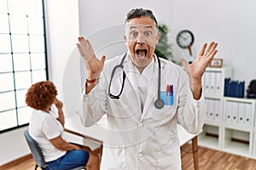
<path fill-rule="evenodd" d="M 0 133 L 30 121 L 26 90 L 46 79 L 44 0 L 0 0 Z"/>

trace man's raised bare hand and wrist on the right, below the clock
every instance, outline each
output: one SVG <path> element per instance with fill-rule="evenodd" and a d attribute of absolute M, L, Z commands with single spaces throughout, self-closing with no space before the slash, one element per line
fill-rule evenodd
<path fill-rule="evenodd" d="M 189 74 L 189 85 L 194 99 L 201 98 L 201 77 L 205 72 L 207 65 L 210 64 L 214 55 L 217 54 L 217 46 L 217 42 L 211 42 L 208 47 L 207 43 L 203 44 L 197 58 L 190 65 L 185 59 L 181 59 L 186 72 Z"/>

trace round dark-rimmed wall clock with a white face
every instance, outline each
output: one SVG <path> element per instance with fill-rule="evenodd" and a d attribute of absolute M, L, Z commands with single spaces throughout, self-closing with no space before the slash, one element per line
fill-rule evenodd
<path fill-rule="evenodd" d="M 189 48 L 194 42 L 193 33 L 189 30 L 183 30 L 177 34 L 177 45 L 180 48 Z"/>

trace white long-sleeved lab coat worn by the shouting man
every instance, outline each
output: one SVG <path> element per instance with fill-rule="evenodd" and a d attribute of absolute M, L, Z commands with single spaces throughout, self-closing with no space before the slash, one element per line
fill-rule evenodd
<path fill-rule="evenodd" d="M 90 94 L 83 96 L 84 126 L 93 125 L 107 114 L 101 169 L 181 169 L 177 123 L 189 133 L 199 133 L 206 113 L 203 97 L 193 99 L 188 76 L 183 69 L 171 61 L 160 59 L 160 91 L 166 91 L 166 84 L 172 84 L 174 105 L 156 109 L 154 101 L 158 99 L 159 73 L 155 59 L 154 75 L 148 84 L 142 112 L 134 67 L 127 55 L 124 61 L 124 91 L 120 99 L 111 99 L 108 97 L 111 73 L 122 58 L 118 56 L 108 60 L 99 83 Z M 113 77 L 111 85 L 112 94 L 119 94 L 123 80 L 123 70 L 118 69 L 116 73 L 117 77 Z"/>

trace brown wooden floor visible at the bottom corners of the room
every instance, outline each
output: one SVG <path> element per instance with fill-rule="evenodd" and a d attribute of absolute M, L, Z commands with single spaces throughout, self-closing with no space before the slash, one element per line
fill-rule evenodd
<path fill-rule="evenodd" d="M 184 144 L 182 147 L 182 165 L 183 170 L 193 170 L 193 156 L 191 153 L 191 145 Z M 209 150 L 199 147 L 199 168 L 200 170 L 256 170 L 256 160 L 248 159 L 241 156 L 230 155 L 218 150 Z M 15 164 L 11 167 L 4 167 L 1 170 L 33 170 L 35 166 L 32 157 Z M 38 168 L 40 169 L 40 168 Z"/>

